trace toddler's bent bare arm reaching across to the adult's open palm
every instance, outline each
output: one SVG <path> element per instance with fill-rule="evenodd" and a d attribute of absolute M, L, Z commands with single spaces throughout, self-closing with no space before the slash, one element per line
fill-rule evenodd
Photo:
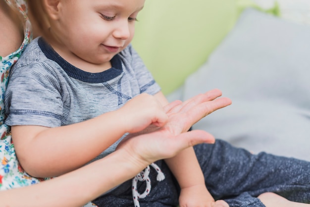
<path fill-rule="evenodd" d="M 118 110 L 77 124 L 12 126 L 11 131 L 23 168 L 35 177 L 53 177 L 83 166 L 126 132 L 138 132 L 150 124 L 162 126 L 166 121 L 158 101 L 142 94 Z"/>

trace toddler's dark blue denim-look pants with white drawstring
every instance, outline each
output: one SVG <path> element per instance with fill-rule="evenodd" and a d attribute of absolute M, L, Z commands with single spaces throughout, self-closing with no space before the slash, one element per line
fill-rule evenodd
<path fill-rule="evenodd" d="M 310 162 L 266 153 L 253 155 L 225 141 L 194 147 L 205 175 L 208 191 L 215 200 L 224 199 L 230 207 L 265 207 L 257 198 L 264 192 L 274 192 L 289 200 L 310 203 Z M 179 186 L 164 161 L 156 164 L 165 179 L 156 181 L 151 170 L 150 194 L 139 199 L 141 207 L 175 207 Z M 134 207 L 131 180 L 93 201 L 99 207 Z M 138 182 L 143 192 L 145 182 Z"/>

